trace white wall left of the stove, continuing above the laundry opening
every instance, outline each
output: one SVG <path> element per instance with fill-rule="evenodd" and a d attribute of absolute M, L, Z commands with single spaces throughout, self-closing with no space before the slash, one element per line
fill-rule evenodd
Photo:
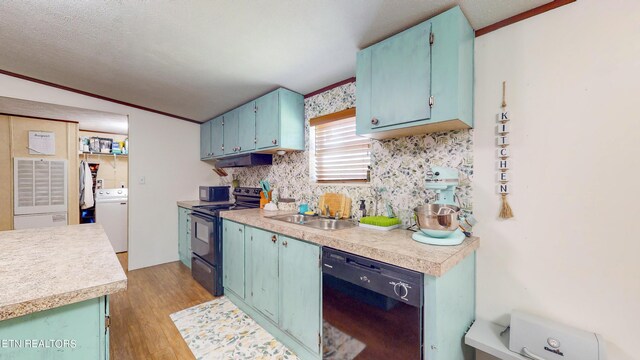
<path fill-rule="evenodd" d="M 129 269 L 178 260 L 176 201 L 219 181 L 199 160 L 198 125 L 5 75 L 0 96 L 129 115 Z"/>

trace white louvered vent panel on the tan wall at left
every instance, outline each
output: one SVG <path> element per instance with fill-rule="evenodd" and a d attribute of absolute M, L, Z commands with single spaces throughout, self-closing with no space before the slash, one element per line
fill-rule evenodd
<path fill-rule="evenodd" d="M 13 159 L 14 214 L 67 211 L 67 160 Z"/>

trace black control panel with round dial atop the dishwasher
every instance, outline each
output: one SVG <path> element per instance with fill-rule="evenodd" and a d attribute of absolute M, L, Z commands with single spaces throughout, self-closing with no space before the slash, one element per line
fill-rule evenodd
<path fill-rule="evenodd" d="M 422 305 L 423 275 L 359 255 L 324 247 L 322 271 L 412 306 Z"/>

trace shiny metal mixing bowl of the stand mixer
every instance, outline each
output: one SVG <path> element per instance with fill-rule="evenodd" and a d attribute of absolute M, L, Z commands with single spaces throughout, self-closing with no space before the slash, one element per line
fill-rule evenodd
<path fill-rule="evenodd" d="M 455 205 L 426 204 L 413 212 L 418 227 L 427 236 L 447 237 L 458 228 L 460 208 Z"/>

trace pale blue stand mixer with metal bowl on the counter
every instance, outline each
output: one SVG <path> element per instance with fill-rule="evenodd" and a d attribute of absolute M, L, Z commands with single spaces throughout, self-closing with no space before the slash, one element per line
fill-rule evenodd
<path fill-rule="evenodd" d="M 458 185 L 457 169 L 434 166 L 427 172 L 426 188 L 436 192 L 436 201 L 414 209 L 420 231 L 413 234 L 413 240 L 432 245 L 458 245 L 464 241 L 458 219 L 460 207 L 455 202 Z"/>

